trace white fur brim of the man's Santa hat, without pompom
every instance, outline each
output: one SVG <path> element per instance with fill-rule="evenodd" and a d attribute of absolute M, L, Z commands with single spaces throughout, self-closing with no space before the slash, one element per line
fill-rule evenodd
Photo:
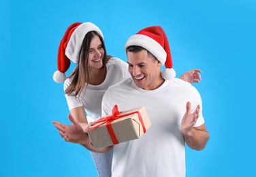
<path fill-rule="evenodd" d="M 163 47 L 151 37 L 146 35 L 132 35 L 129 37 L 125 44 L 125 51 L 129 46 L 141 46 L 153 54 L 161 63 L 161 66 L 165 64 L 166 52 Z"/>

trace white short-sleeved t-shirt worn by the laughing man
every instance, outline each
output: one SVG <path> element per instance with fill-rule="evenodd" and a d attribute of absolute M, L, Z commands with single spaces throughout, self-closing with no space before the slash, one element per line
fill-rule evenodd
<path fill-rule="evenodd" d="M 140 139 L 114 145 L 112 176 L 185 176 L 185 140 L 180 130 L 191 101 L 191 112 L 201 106 L 195 127 L 204 124 L 202 100 L 188 82 L 175 78 L 153 91 L 138 88 L 129 78 L 111 86 L 102 100 L 103 116 L 145 106 L 151 127 Z"/>

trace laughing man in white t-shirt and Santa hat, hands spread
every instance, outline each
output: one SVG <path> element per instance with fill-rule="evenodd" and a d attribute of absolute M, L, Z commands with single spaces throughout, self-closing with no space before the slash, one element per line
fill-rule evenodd
<path fill-rule="evenodd" d="M 111 86 L 102 100 L 103 116 L 119 110 L 145 106 L 151 127 L 138 140 L 114 145 L 112 176 L 185 176 L 185 142 L 202 150 L 209 134 L 202 115 L 202 100 L 188 82 L 175 77 L 165 32 L 154 26 L 142 29 L 125 44 L 131 78 Z M 166 69 L 161 73 L 161 66 Z M 66 141 L 94 149 L 89 137 L 69 119 L 80 136 L 61 135 Z"/>

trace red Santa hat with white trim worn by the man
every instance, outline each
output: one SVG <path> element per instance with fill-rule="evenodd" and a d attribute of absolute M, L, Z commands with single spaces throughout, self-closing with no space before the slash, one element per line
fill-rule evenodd
<path fill-rule="evenodd" d="M 161 63 L 165 65 L 162 77 L 171 80 L 176 76 L 172 68 L 172 55 L 165 31 L 159 26 L 147 27 L 137 34 L 129 37 L 125 44 L 125 50 L 129 46 L 141 46 L 153 54 Z"/>

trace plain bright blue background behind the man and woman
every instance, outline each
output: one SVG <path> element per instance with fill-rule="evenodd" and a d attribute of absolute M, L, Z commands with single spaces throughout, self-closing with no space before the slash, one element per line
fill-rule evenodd
<path fill-rule="evenodd" d="M 76 21 L 98 25 L 108 54 L 124 61 L 130 35 L 161 25 L 177 75 L 203 71 L 194 86 L 210 140 L 201 152 L 187 148 L 187 176 L 256 175 L 255 0 L 2 0 L 0 176 L 97 176 L 89 152 L 52 125 L 69 124 L 63 84 L 52 74 L 59 42 Z"/>

